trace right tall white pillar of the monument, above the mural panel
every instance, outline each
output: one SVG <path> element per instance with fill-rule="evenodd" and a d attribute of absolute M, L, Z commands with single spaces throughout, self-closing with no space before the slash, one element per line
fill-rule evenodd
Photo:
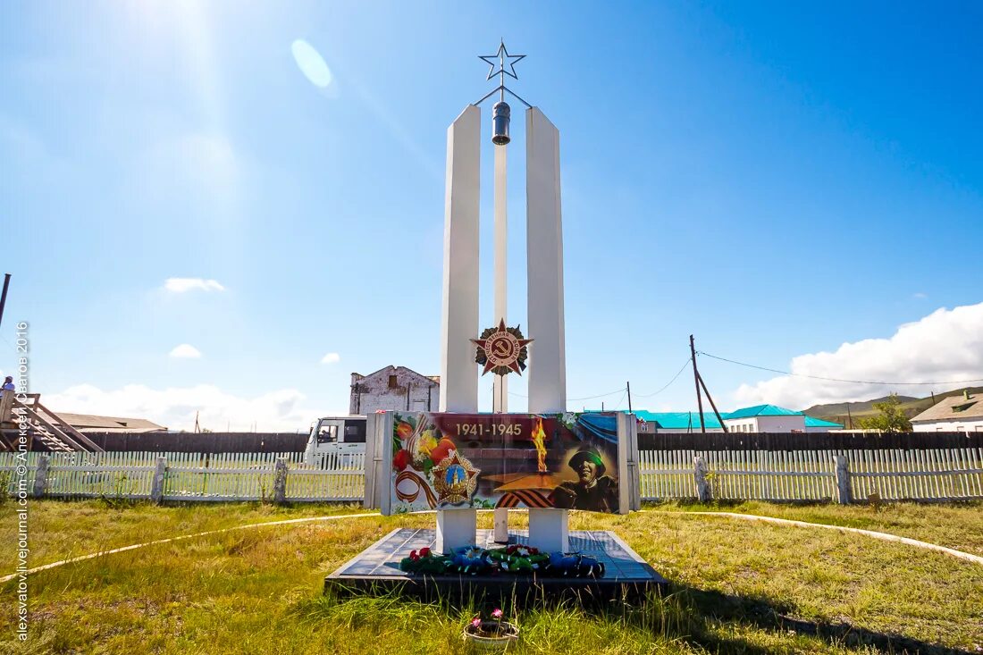
<path fill-rule="evenodd" d="M 559 131 L 536 107 L 526 110 L 526 249 L 529 411 L 566 410 L 563 336 L 563 229 Z"/>

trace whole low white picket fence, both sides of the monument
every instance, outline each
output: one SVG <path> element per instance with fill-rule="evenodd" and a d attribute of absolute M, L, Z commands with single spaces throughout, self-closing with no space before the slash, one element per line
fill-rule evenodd
<path fill-rule="evenodd" d="M 32 497 L 358 502 L 365 454 L 0 453 L 0 489 Z M 983 500 L 983 448 L 641 450 L 643 500 Z M 23 468 L 19 468 L 23 465 Z"/>

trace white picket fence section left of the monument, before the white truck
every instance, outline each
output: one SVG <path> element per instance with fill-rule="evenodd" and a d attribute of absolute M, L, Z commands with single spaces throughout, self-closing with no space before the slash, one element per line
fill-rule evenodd
<path fill-rule="evenodd" d="M 42 466 L 42 457 L 46 467 Z M 161 461 L 162 460 L 162 461 Z M 277 460 L 282 491 L 277 494 Z M 29 495 L 165 501 L 361 502 L 365 455 L 327 453 L 313 465 L 302 452 L 65 452 L 0 453 L 0 476 L 9 494 L 19 480 Z M 25 464 L 26 475 L 18 471 Z M 38 485 L 38 469 L 42 480 Z M 154 478 L 161 472 L 157 488 Z"/>

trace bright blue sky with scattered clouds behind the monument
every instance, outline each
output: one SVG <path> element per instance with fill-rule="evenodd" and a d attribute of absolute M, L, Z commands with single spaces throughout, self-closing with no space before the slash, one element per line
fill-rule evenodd
<path fill-rule="evenodd" d="M 561 131 L 568 397 L 663 387 L 690 333 L 813 375 L 983 378 L 981 28 L 973 3 L 3 4 L 0 370 L 29 321 L 31 390 L 215 429 L 304 428 L 347 406 L 352 371 L 438 373 L 446 127 L 504 37 L 528 54 L 513 88 Z M 726 409 L 911 390 L 701 369 Z M 635 406 L 693 395 L 683 375 Z"/>

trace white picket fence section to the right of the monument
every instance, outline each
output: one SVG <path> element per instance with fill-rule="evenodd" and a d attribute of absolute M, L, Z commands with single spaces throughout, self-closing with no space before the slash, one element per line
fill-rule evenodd
<path fill-rule="evenodd" d="M 838 478 L 837 458 L 842 468 Z M 701 474 L 695 462 L 705 464 Z M 983 448 L 642 450 L 642 499 L 966 501 L 983 499 Z M 701 482 L 705 492 L 700 493 Z"/>

